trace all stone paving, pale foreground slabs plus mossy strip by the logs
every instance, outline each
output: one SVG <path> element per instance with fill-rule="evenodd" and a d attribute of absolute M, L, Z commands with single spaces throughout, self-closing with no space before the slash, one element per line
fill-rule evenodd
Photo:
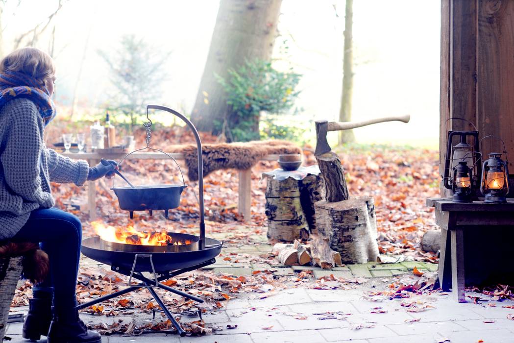
<path fill-rule="evenodd" d="M 422 272 L 437 270 L 437 264 L 402 261 L 398 263 L 367 263 L 347 265 L 326 270 L 310 266 L 282 266 L 268 263 L 245 262 L 252 259 L 241 258 L 243 262 L 230 263 L 224 257 L 230 252 L 238 256 L 259 256 L 269 254 L 270 245 L 245 245 L 227 247 L 217 263 L 204 269 L 235 276 L 249 275 L 253 270 L 270 269 L 277 275 L 293 275 L 302 270 L 313 270 L 316 278 L 334 274 L 342 278 L 366 278 L 363 284 L 348 285 L 348 290 L 314 290 L 292 288 L 272 292 L 271 296 L 260 299 L 259 294 L 238 295 L 226 303 L 226 308 L 215 314 L 204 315 L 206 323 L 223 330 L 201 337 L 179 337 L 166 334 L 142 334 L 140 336 L 104 336 L 102 342 L 145 343 L 161 339 L 170 343 L 260 343 L 260 342 L 514 342 L 514 309 L 502 306 L 514 305 L 512 301 L 490 301 L 474 304 L 454 302 L 449 294 L 434 293 L 407 299 L 409 302 L 430 304 L 423 312 L 408 312 L 400 305 L 406 299 L 370 302 L 363 297 L 366 291 L 383 290 L 403 274 L 412 273 L 414 267 Z M 86 264 L 95 264 L 84 260 Z M 468 293 L 469 295 L 469 293 Z M 377 298 L 377 297 L 373 297 Z M 485 296 L 482 295 L 482 298 Z M 469 300 L 469 299 L 468 299 Z M 26 312 L 27 308 L 15 308 L 14 312 Z M 320 320 L 321 313 L 335 312 L 332 319 Z M 383 312 L 383 313 L 372 313 Z M 326 317 L 326 316 L 325 316 Z M 150 314 L 135 313 L 132 316 L 93 316 L 82 314 L 81 318 L 91 324 L 114 320 L 134 321 L 136 324 L 152 321 Z M 187 321 L 194 318 L 185 318 Z M 235 327 L 227 329 L 227 326 Z M 11 323 L 7 335 L 11 342 L 24 342 L 21 337 L 22 323 Z M 41 340 L 40 342 L 46 342 Z"/>

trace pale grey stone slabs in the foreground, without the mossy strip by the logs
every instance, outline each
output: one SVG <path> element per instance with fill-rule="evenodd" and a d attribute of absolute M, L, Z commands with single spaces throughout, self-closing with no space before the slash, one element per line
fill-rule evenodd
<path fill-rule="evenodd" d="M 379 286 L 381 280 L 371 280 L 366 287 Z M 362 285 L 361 285 L 362 286 Z M 507 319 L 514 310 L 502 308 L 512 301 L 492 302 L 496 306 L 456 303 L 448 294 L 419 296 L 433 309 L 410 313 L 400 306 L 400 300 L 383 299 L 369 302 L 362 299 L 361 286 L 353 290 L 308 290 L 295 288 L 277 292 L 265 299 L 250 296 L 231 300 L 226 309 L 206 315 L 208 323 L 224 328 L 215 335 L 179 337 L 166 334 L 133 336 L 104 336 L 102 342 L 170 343 L 260 343 L 260 342 L 486 342 L 514 341 L 514 321 Z M 483 297 L 483 296 L 482 296 Z M 405 299 L 402 299 L 405 300 Z M 409 301 L 416 301 L 416 298 Z M 381 308 L 385 313 L 371 313 Z M 339 312 L 338 318 L 319 320 L 317 313 Z M 111 323 L 120 318 L 91 315 L 85 321 L 103 320 Z M 304 318 L 304 319 L 299 319 Z M 122 318 L 124 319 L 124 318 Z M 418 321 L 416 321 L 418 320 Z M 237 326 L 226 329 L 227 325 Z M 359 329 L 362 327 L 361 329 Z M 22 323 L 11 323 L 7 329 L 11 342 L 23 342 Z M 41 340 L 40 342 L 45 342 Z"/>

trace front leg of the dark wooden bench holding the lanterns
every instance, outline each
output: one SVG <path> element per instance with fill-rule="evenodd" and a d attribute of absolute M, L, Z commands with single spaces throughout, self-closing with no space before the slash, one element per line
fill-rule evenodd
<path fill-rule="evenodd" d="M 451 235 L 451 281 L 452 297 L 455 301 L 466 302 L 464 290 L 464 231 L 455 229 Z"/>

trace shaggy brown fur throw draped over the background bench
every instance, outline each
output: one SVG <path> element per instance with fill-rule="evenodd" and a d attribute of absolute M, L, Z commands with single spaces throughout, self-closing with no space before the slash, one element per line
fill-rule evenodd
<path fill-rule="evenodd" d="M 198 180 L 198 157 L 196 145 L 167 147 L 167 151 L 183 153 L 190 181 Z M 250 142 L 205 144 L 202 147 L 204 176 L 218 169 L 246 170 L 266 155 L 301 154 L 294 143 L 284 140 L 256 140 Z"/>

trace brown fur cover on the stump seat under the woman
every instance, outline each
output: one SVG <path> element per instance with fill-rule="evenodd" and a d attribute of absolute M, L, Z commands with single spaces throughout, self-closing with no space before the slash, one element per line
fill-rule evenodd
<path fill-rule="evenodd" d="M 39 283 L 45 279 L 49 269 L 48 255 L 39 248 L 39 244 L 30 242 L 0 243 L 0 259 L 18 256 L 23 256 L 24 279 L 28 279 L 32 283 Z M 2 274 L 5 276 L 5 272 Z"/>

